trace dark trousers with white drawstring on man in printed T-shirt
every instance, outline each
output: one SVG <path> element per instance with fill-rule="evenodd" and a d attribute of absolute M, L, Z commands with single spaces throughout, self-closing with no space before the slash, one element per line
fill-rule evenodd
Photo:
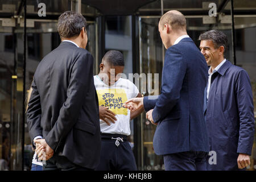
<path fill-rule="evenodd" d="M 123 142 L 117 139 L 118 137 Z M 137 171 L 133 151 L 126 135 L 101 135 L 101 158 L 96 171 Z"/>

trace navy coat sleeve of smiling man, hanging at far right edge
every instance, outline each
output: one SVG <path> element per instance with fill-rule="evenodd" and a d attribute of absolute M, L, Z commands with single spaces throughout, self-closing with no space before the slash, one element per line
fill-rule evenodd
<path fill-rule="evenodd" d="M 240 117 L 237 153 L 251 155 L 254 139 L 254 107 L 250 78 L 245 70 L 238 75 L 236 98 Z"/>

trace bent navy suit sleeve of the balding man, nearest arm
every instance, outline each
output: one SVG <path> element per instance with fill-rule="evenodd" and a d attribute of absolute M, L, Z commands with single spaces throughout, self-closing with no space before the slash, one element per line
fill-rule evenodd
<path fill-rule="evenodd" d="M 187 69 L 187 64 L 177 48 L 168 49 L 164 60 L 162 91 L 152 112 L 155 123 L 162 121 L 179 101 Z"/>

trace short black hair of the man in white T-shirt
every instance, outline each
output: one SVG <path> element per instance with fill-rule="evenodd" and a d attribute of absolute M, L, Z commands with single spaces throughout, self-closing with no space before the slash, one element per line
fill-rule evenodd
<path fill-rule="evenodd" d="M 108 61 L 114 66 L 125 66 L 125 61 L 123 60 L 123 54 L 120 51 L 110 50 L 105 53 L 104 60 Z"/>

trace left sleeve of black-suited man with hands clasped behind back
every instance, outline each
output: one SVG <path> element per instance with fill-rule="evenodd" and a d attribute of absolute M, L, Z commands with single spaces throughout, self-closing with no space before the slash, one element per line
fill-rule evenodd
<path fill-rule="evenodd" d="M 32 92 L 30 96 L 30 100 L 28 102 L 27 109 L 27 124 L 28 131 L 30 134 L 30 138 L 32 141 L 32 146 L 34 146 L 33 139 L 39 135 L 42 136 L 42 127 L 41 127 L 41 104 L 40 104 L 40 96 L 38 93 L 38 89 L 36 88 L 35 78 L 31 84 Z"/>

